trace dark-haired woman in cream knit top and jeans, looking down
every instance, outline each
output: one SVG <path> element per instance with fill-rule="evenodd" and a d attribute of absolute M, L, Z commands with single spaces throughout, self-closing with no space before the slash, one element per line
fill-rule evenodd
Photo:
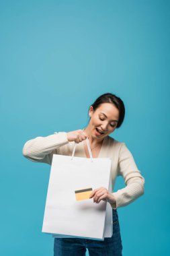
<path fill-rule="evenodd" d="M 125 143 L 110 137 L 124 121 L 124 103 L 114 94 L 103 94 L 89 108 L 89 124 L 77 131 L 55 132 L 47 137 L 36 137 L 26 142 L 23 154 L 34 162 L 52 163 L 53 154 L 71 156 L 75 142 L 75 156 L 89 158 L 86 138 L 89 138 L 93 158 L 112 158 L 112 185 L 122 175 L 126 187 L 110 193 L 105 187 L 92 191 L 94 203 L 108 201 L 112 206 L 113 235 L 104 241 L 85 238 L 54 238 L 54 256 L 83 256 L 86 249 L 90 256 L 122 255 L 122 240 L 118 220 L 118 207 L 128 205 L 144 193 L 144 178 Z"/>

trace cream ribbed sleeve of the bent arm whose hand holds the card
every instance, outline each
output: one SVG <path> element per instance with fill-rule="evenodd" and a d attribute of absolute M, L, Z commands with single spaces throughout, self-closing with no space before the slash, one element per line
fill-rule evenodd
<path fill-rule="evenodd" d="M 118 175 L 122 175 L 126 187 L 113 193 L 116 198 L 116 204 L 111 205 L 114 209 L 126 206 L 144 194 L 144 177 L 138 170 L 134 158 L 125 143 L 122 143 L 120 147 Z"/>

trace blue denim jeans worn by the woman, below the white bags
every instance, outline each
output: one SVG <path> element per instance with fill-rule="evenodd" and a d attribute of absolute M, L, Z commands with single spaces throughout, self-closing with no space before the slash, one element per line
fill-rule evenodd
<path fill-rule="evenodd" d="M 54 256 L 122 256 L 122 240 L 117 210 L 113 213 L 113 235 L 103 241 L 85 238 L 54 238 Z"/>

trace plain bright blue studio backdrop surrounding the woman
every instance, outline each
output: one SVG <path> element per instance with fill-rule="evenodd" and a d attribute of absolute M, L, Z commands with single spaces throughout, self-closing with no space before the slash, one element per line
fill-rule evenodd
<path fill-rule="evenodd" d="M 122 98 L 145 193 L 118 209 L 123 255 L 169 255 L 169 1 L 1 1 L 1 255 L 53 255 L 41 232 L 50 166 L 24 143 L 83 129 L 101 94 Z M 119 177 L 115 191 L 124 187 Z"/>

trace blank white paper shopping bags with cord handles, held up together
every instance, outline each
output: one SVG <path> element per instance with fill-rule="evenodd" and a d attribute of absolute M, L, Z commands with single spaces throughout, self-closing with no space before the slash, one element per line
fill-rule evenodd
<path fill-rule="evenodd" d="M 76 146 L 76 143 L 75 143 Z M 111 159 L 53 155 L 42 232 L 55 237 L 103 240 L 112 236 L 112 207 L 101 200 L 77 201 L 75 191 L 105 187 L 112 193 Z"/>

